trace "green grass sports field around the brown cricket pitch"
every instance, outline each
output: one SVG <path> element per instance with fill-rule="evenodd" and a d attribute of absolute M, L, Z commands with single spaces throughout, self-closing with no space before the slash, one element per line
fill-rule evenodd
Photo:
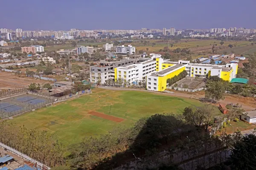
<path fill-rule="evenodd" d="M 10 122 L 25 125 L 27 128 L 49 130 L 64 144 L 71 144 L 79 142 L 84 136 L 106 134 L 117 124 L 132 126 L 132 123 L 138 119 L 155 113 L 182 113 L 189 105 L 201 106 L 202 103 L 194 99 L 149 92 L 110 91 L 97 88 L 93 90 L 93 94 L 25 113 Z M 93 116 L 88 113 L 90 111 L 124 120 L 115 122 Z M 216 114 L 220 114 L 217 108 Z"/>

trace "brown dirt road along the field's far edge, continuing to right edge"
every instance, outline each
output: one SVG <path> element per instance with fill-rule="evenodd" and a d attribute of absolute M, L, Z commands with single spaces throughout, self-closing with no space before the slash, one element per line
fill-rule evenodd
<path fill-rule="evenodd" d="M 147 91 L 147 90 L 140 90 L 140 89 L 132 89 L 132 88 L 112 88 L 112 87 L 104 87 L 99 86 L 99 88 L 107 89 L 107 90 L 121 90 L 121 91 L 145 91 L 145 92 L 151 92 L 155 94 L 162 94 L 167 96 L 177 96 L 177 97 L 184 97 L 184 98 L 201 98 L 204 97 L 204 94 L 199 93 L 192 93 L 192 94 L 186 94 L 175 91 L 174 93 L 161 93 L 157 91 Z M 256 109 L 256 101 L 253 98 L 249 97 L 243 97 L 238 95 L 227 95 L 225 96 L 224 100 L 221 100 L 219 103 L 222 103 L 224 105 L 227 105 L 228 103 L 238 103 L 239 105 L 242 105 L 242 108 L 245 111 L 251 111 Z M 218 106 L 218 104 L 216 104 Z"/>

